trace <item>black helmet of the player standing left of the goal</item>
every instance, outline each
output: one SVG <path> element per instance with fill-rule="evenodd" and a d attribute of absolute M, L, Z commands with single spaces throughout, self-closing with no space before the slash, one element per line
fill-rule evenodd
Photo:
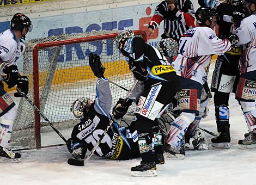
<path fill-rule="evenodd" d="M 31 23 L 31 20 L 28 18 L 28 16 L 21 13 L 17 13 L 11 19 L 11 29 L 19 30 L 22 32 L 23 28 L 27 28 L 27 32 L 26 32 L 27 34 L 28 32 L 32 31 L 33 25 Z M 25 39 L 25 35 L 22 35 L 24 39 Z"/>

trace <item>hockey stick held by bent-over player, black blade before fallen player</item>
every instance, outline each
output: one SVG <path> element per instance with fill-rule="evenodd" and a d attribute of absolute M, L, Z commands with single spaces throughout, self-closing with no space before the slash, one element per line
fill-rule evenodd
<path fill-rule="evenodd" d="M 130 91 L 127 93 L 126 98 L 124 100 L 124 102 L 129 98 L 131 92 L 133 91 L 133 89 L 136 87 L 138 83 L 138 80 L 132 85 L 132 88 L 130 89 Z M 101 140 L 105 137 L 108 129 L 112 126 L 114 122 L 114 119 L 112 118 L 111 121 L 109 122 L 109 125 L 107 126 L 107 128 L 105 129 L 105 131 L 102 133 L 101 137 L 99 140 L 97 140 L 97 143 L 95 144 L 95 146 L 93 147 L 93 150 L 90 151 L 89 156 L 85 159 L 85 160 L 79 160 L 79 159 L 73 159 L 73 158 L 69 158 L 68 159 L 68 164 L 70 165 L 74 165 L 74 166 L 84 166 L 88 163 L 89 159 L 93 156 L 93 153 L 95 152 L 95 150 L 97 149 L 97 147 L 100 145 Z"/>

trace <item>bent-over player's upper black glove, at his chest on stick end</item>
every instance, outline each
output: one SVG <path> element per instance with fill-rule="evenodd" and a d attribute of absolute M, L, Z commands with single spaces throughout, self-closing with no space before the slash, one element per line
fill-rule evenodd
<path fill-rule="evenodd" d="M 142 67 L 142 63 L 140 61 L 131 61 L 129 62 L 130 70 L 138 81 L 147 81 L 148 79 L 148 71 L 144 67 Z"/>

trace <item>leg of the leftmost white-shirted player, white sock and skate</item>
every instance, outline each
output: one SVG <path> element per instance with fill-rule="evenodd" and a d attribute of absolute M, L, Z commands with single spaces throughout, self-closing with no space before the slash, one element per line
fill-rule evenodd
<path fill-rule="evenodd" d="M 4 91 L 2 83 L 0 84 L 0 101 L 0 157 L 18 159 L 21 157 L 20 153 L 9 148 L 17 108 L 10 95 Z"/>

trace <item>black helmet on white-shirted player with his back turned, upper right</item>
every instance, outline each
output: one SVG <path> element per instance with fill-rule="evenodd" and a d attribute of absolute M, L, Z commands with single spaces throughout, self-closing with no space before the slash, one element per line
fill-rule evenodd
<path fill-rule="evenodd" d="M 213 16 L 216 16 L 218 19 L 218 12 L 214 8 L 200 7 L 197 9 L 195 16 L 199 25 L 205 26 L 205 21 L 209 20 L 211 22 L 213 20 Z"/>

